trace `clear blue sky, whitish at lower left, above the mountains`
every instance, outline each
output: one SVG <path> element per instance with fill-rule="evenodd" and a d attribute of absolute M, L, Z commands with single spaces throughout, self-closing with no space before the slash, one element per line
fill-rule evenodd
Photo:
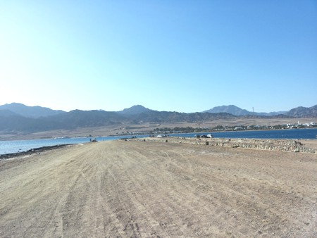
<path fill-rule="evenodd" d="M 2 0 L 0 30 L 0 105 L 317 104 L 316 0 Z"/>

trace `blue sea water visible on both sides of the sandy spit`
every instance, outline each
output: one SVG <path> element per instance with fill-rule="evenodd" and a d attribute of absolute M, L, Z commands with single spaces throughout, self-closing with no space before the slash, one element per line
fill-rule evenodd
<path fill-rule="evenodd" d="M 215 138 L 256 138 L 256 139 L 316 139 L 317 128 L 313 129 L 293 129 L 293 130 L 257 130 L 257 131 L 237 131 L 237 132 L 206 132 L 206 133 L 182 133 L 169 134 L 173 137 L 194 137 L 195 134 L 212 134 Z M 137 136 L 139 138 L 148 135 Z M 97 140 L 108 141 L 122 139 L 129 136 L 120 137 L 97 137 Z M 0 141 L 0 154 L 10 154 L 19 151 L 27 151 L 42 146 L 54 146 L 58 144 L 81 144 L 89 142 L 89 138 L 64 138 L 64 139 L 28 139 L 15 141 Z"/>

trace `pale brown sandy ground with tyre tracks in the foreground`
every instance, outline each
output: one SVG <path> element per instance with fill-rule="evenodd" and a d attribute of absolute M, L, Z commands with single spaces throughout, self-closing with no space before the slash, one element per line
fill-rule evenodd
<path fill-rule="evenodd" d="M 317 237 L 317 156 L 97 142 L 0 161 L 0 198 L 0 237 Z"/>

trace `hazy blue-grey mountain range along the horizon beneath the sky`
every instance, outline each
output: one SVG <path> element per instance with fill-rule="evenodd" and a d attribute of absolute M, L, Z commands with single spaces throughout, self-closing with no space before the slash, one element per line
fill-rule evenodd
<path fill-rule="evenodd" d="M 317 105 L 297 107 L 278 113 L 253 113 L 234 105 L 219 106 L 201 113 L 154 111 L 141 105 L 123 111 L 52 110 L 40 106 L 5 104 L 0 106 L 1 132 L 41 132 L 46 130 L 72 130 L 80 127 L 142 123 L 199 123 L 230 118 L 317 118 Z"/>

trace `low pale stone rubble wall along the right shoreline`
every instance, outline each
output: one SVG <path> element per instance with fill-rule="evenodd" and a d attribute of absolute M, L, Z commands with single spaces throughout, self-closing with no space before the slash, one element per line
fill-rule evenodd
<path fill-rule="evenodd" d="M 144 139 L 142 139 L 144 140 Z M 270 151 L 290 151 L 302 153 L 316 153 L 316 149 L 307 148 L 301 142 L 292 139 L 197 139 L 188 137 L 149 138 L 159 142 L 174 142 L 188 144 L 205 144 L 209 146 L 223 146 L 232 148 L 262 149 Z"/>

